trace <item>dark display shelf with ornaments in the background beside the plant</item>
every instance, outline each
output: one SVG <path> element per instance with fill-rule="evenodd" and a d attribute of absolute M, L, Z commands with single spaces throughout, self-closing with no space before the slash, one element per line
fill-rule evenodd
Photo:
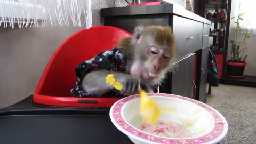
<path fill-rule="evenodd" d="M 226 14 L 226 20 L 220 17 L 214 17 L 214 18 L 210 18 L 209 21 L 211 21 L 211 29 L 210 30 L 214 30 L 214 29 L 221 29 L 223 28 L 223 33 L 220 32 L 219 34 L 223 34 L 223 35 L 212 35 L 214 33 L 209 34 L 209 43 L 213 44 L 211 45 L 211 50 L 213 50 L 214 48 L 214 55 L 218 55 L 219 58 L 221 58 L 221 61 L 218 62 L 218 66 L 219 66 L 219 75 L 220 76 L 225 76 L 226 74 L 226 59 L 227 56 L 229 54 L 228 51 L 228 45 L 229 45 L 229 25 L 230 25 L 230 12 L 231 12 L 231 0 L 227 0 L 225 1 L 226 3 L 219 3 L 219 4 L 209 4 L 207 2 L 213 2 L 213 1 L 205 1 L 205 0 L 199 0 L 200 4 L 199 5 L 199 10 L 202 16 L 201 17 L 206 17 L 208 16 L 208 18 L 210 18 L 208 14 L 206 14 L 205 12 L 211 12 L 212 15 L 215 12 L 220 12 L 221 9 L 226 10 L 225 14 Z M 221 1 L 223 2 L 223 1 Z M 223 15 L 223 14 L 220 14 Z M 219 15 L 219 16 L 220 16 Z M 208 19 L 207 19 L 208 20 Z M 225 80 L 223 80 L 225 81 Z"/>

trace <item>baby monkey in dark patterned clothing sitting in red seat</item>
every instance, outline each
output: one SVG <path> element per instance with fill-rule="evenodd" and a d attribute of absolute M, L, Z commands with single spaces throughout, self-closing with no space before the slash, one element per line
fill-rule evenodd
<path fill-rule="evenodd" d="M 161 85 L 175 62 L 175 39 L 171 27 L 137 26 L 131 37 L 122 39 L 117 47 L 101 52 L 76 67 L 77 83 L 71 89 L 74 97 L 90 97 L 115 91 L 119 95 L 137 94 L 139 89 L 152 92 Z M 108 74 L 123 84 L 118 91 L 106 84 Z"/>

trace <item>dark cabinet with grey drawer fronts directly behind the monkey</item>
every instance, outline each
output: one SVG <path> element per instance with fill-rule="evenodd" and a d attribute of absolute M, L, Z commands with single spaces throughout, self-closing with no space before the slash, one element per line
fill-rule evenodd
<path fill-rule="evenodd" d="M 202 71 L 207 73 L 207 66 L 202 62 L 202 59 L 206 59 L 207 64 L 207 55 L 203 55 L 206 52 L 202 54 L 202 48 L 207 46 L 209 41 L 209 20 L 176 4 L 104 8 L 101 9 L 101 18 L 103 25 L 119 27 L 130 33 L 137 25 L 170 26 L 178 51 L 178 69 L 167 75 L 159 90 L 161 93 L 182 95 L 204 102 L 205 95 L 201 96 L 199 90 L 206 91 L 206 86 L 198 81 L 202 79 L 205 82 L 206 77 L 198 76 L 203 74 Z"/>

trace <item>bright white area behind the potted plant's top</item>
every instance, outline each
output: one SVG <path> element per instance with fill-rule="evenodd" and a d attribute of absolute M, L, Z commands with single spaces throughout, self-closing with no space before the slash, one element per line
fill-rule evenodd
<path fill-rule="evenodd" d="M 248 30 L 252 34 L 256 34 L 256 19 L 255 19 L 255 9 L 256 1 L 252 0 L 236 0 L 231 3 L 231 17 L 234 19 L 230 20 L 230 27 L 234 28 L 236 26 L 236 19 L 239 13 L 244 13 L 242 16 L 243 20 L 240 20 L 241 32 Z"/>

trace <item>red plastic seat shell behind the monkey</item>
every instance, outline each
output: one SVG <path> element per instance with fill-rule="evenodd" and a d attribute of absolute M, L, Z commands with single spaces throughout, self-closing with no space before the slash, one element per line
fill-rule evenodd
<path fill-rule="evenodd" d="M 77 31 L 55 51 L 47 64 L 33 95 L 33 102 L 67 107 L 111 107 L 119 98 L 73 98 L 75 67 L 95 54 L 111 49 L 131 34 L 111 26 L 94 26 Z M 98 103 L 77 103 L 77 100 L 94 100 Z"/>

